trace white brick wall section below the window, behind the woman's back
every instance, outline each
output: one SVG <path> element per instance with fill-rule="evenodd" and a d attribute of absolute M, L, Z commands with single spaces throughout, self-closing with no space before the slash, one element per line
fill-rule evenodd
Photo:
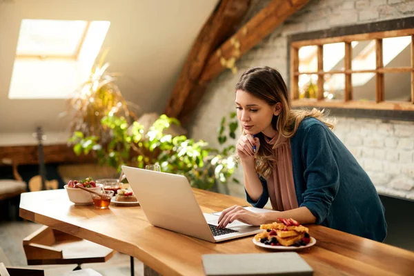
<path fill-rule="evenodd" d="M 351 131 L 343 134 L 344 129 Z M 377 190 L 397 197 L 413 196 L 414 137 L 408 137 L 413 131 L 414 122 L 347 117 L 338 117 L 333 130 L 335 135 L 340 133 L 337 136 L 366 170 Z"/>

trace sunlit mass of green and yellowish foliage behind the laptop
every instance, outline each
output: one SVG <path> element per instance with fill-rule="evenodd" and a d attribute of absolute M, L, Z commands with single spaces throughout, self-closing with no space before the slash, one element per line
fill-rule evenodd
<path fill-rule="evenodd" d="M 92 68 L 89 79 L 75 91 L 70 99 L 72 107 L 69 143 L 77 155 L 92 153 L 99 164 L 120 171 L 121 165 L 144 168 L 159 164 L 164 172 L 186 175 L 197 188 L 214 189 L 226 183 L 233 175 L 235 147 L 224 146 L 227 139 L 235 139 L 237 120 L 235 113 L 221 120 L 218 140 L 221 150 L 209 148 L 205 141 L 194 141 L 185 135 L 166 132 L 177 119 L 161 115 L 146 130 L 128 109 L 116 84 L 117 74 L 107 71 L 104 63 L 108 51 Z M 233 121 L 232 121 L 233 120 Z M 237 181 L 237 180 L 236 180 Z"/>

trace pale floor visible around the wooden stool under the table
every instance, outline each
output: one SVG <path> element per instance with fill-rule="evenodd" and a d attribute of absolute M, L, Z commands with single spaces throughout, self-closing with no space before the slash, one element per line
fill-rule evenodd
<path fill-rule="evenodd" d="M 45 270 L 46 276 L 57 276 L 69 273 L 76 267 L 71 265 L 28 266 L 23 251 L 23 238 L 40 228 L 41 225 L 29 221 L 0 222 L 0 262 L 6 266 L 33 267 Z M 135 259 L 135 275 L 144 275 L 144 264 Z M 108 262 L 97 264 L 82 264 L 82 268 L 92 268 L 104 276 L 130 275 L 130 257 L 116 253 Z"/>

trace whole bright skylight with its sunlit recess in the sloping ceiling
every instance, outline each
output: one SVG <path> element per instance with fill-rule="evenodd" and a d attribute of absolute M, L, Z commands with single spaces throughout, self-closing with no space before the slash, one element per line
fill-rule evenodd
<path fill-rule="evenodd" d="M 109 21 L 23 19 L 9 99 L 66 99 L 88 79 Z"/>

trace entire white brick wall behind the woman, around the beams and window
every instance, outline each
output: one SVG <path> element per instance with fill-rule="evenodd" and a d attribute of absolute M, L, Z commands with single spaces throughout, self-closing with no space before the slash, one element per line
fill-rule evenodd
<path fill-rule="evenodd" d="M 244 23 L 269 1 L 252 1 Z M 413 0 L 310 1 L 237 61 L 237 75 L 226 70 L 210 83 L 193 115 L 190 135 L 218 146 L 217 126 L 221 117 L 234 110 L 234 86 L 247 68 L 270 66 L 279 70 L 287 81 L 288 34 L 410 17 L 413 14 Z M 364 167 L 378 191 L 414 199 L 414 122 L 338 117 L 334 132 Z M 242 181 L 242 168 L 235 176 Z M 229 190 L 231 195 L 244 197 L 242 184 L 229 184 Z"/>

